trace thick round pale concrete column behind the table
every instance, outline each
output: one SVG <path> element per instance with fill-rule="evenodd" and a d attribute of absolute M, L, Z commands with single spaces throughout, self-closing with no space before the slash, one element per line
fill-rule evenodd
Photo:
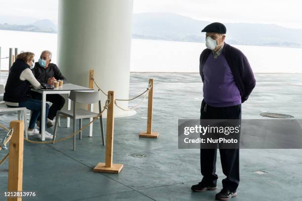
<path fill-rule="evenodd" d="M 59 0 L 58 65 L 68 83 L 88 87 L 94 69 L 105 92 L 129 98 L 132 9 L 133 0 Z M 114 109 L 115 117 L 135 114 Z"/>

